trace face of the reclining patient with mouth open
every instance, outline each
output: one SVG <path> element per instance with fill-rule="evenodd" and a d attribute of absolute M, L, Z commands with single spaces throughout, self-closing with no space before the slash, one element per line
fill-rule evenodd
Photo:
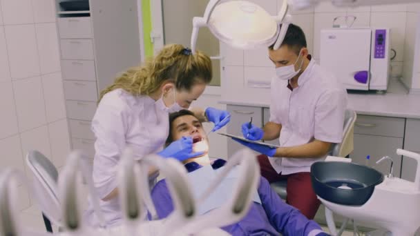
<path fill-rule="evenodd" d="M 173 141 L 184 137 L 193 138 L 193 151 L 204 152 L 207 155 L 209 152 L 209 143 L 207 141 L 206 132 L 202 128 L 202 124 L 192 115 L 183 115 L 173 121 L 172 124 L 172 138 Z"/>

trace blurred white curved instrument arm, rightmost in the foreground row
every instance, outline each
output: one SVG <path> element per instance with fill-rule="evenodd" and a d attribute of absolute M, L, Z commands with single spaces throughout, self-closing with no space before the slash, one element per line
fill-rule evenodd
<path fill-rule="evenodd" d="M 220 228 L 228 226 L 240 221 L 247 215 L 260 180 L 258 162 L 251 150 L 247 149 L 239 150 L 232 157 L 229 157 L 225 168 L 198 199 L 198 204 L 202 203 L 215 190 L 233 167 L 238 168 L 238 182 L 232 190 L 231 199 L 223 206 L 196 217 L 190 224 L 182 227 L 181 230 L 184 233 L 195 233 L 204 227 Z"/>

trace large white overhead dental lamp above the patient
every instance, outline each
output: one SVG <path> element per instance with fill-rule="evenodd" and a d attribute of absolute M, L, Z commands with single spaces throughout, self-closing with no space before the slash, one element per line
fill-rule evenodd
<path fill-rule="evenodd" d="M 210 0 L 204 16 L 193 18 L 192 52 L 195 52 L 198 30 L 204 26 L 220 41 L 234 48 L 267 48 L 275 43 L 274 49 L 278 49 L 292 21 L 292 17 L 287 14 L 287 1 L 283 1 L 278 15 L 274 17 L 258 4 L 249 1 Z"/>

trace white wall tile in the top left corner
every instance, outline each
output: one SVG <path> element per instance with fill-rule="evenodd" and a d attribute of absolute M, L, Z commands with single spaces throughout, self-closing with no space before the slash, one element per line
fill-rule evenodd
<path fill-rule="evenodd" d="M 0 0 L 0 3 L 5 25 L 34 23 L 30 0 Z"/>

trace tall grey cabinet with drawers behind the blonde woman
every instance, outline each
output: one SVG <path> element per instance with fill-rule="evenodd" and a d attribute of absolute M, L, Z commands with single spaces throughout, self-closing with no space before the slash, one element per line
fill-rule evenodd
<path fill-rule="evenodd" d="M 71 12 L 60 1 L 55 3 L 72 148 L 93 158 L 90 121 L 98 95 L 118 73 L 140 63 L 137 0 L 90 0 L 90 10 Z"/>

